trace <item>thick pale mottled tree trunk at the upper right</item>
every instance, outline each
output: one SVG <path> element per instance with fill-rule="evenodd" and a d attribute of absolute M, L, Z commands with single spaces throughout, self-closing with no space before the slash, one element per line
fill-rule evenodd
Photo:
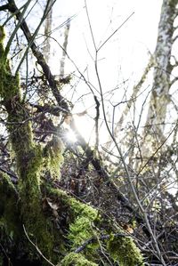
<path fill-rule="evenodd" d="M 177 0 L 164 0 L 158 25 L 158 41 L 155 51 L 150 107 L 146 119 L 142 144 L 142 156 L 150 157 L 166 140 L 164 136 L 166 110 L 170 102 L 170 63 L 174 35 L 174 19 L 177 15 Z"/>

